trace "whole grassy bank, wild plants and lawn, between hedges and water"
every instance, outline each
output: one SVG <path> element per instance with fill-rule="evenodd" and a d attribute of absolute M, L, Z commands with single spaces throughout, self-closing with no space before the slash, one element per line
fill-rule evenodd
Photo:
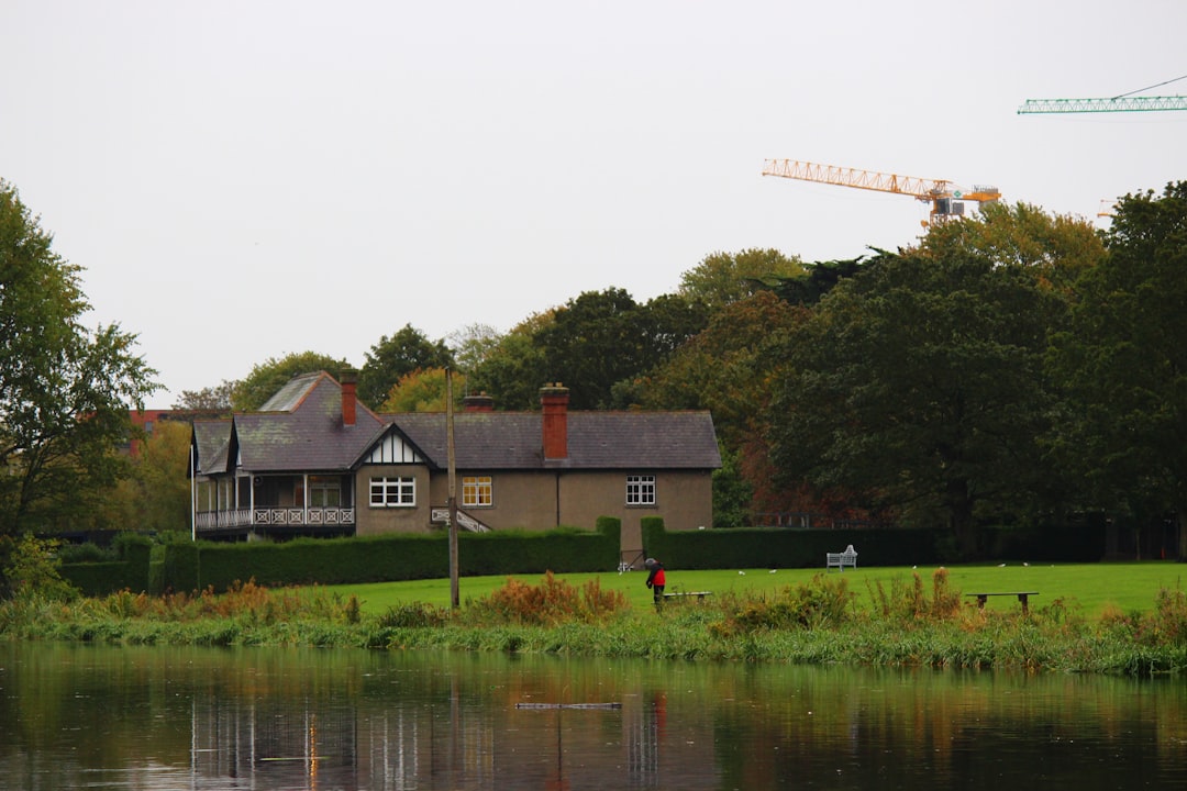
<path fill-rule="evenodd" d="M 1129 675 L 1187 670 L 1181 566 L 737 569 L 669 573 L 712 591 L 658 613 L 640 573 L 0 605 L 0 636 L 114 644 L 300 645 L 553 652 L 683 661 L 1029 669 Z M 1002 597 L 1033 591 L 1028 614 Z M 1090 604 L 1081 602 L 1081 598 Z"/>

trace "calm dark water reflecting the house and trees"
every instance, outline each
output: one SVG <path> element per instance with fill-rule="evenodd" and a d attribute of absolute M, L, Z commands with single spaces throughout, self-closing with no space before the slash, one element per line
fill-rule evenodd
<path fill-rule="evenodd" d="M 1182 789 L 1187 682 L 0 643 L 0 786 Z"/>

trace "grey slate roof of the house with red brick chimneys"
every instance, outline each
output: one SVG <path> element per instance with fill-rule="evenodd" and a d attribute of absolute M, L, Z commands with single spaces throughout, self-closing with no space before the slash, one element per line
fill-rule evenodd
<path fill-rule="evenodd" d="M 354 426 L 342 425 L 342 389 L 328 374 L 296 377 L 264 404 L 230 421 L 195 422 L 199 472 L 242 470 L 345 472 L 387 432 L 447 465 L 444 413 L 376 415 L 361 403 Z M 713 470 L 722 460 L 707 412 L 570 412 L 569 455 L 544 459 L 544 416 L 523 412 L 458 413 L 456 464 L 463 470 Z"/>

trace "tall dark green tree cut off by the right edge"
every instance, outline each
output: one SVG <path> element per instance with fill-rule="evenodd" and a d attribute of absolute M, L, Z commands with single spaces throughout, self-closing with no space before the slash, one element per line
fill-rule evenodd
<path fill-rule="evenodd" d="M 1121 199 L 1050 357 L 1071 400 L 1060 458 L 1113 513 L 1187 513 L 1187 181 Z M 1179 555 L 1187 556 L 1180 522 Z"/>

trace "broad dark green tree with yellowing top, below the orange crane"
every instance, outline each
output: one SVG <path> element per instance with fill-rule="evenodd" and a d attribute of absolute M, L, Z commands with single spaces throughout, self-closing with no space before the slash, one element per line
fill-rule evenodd
<path fill-rule="evenodd" d="M 966 555 L 978 524 L 1059 496 L 1042 359 L 1066 320 L 1058 285 L 1099 259 L 1094 238 L 1087 223 L 995 206 L 842 281 L 787 347 L 781 479 L 947 525 Z"/>

